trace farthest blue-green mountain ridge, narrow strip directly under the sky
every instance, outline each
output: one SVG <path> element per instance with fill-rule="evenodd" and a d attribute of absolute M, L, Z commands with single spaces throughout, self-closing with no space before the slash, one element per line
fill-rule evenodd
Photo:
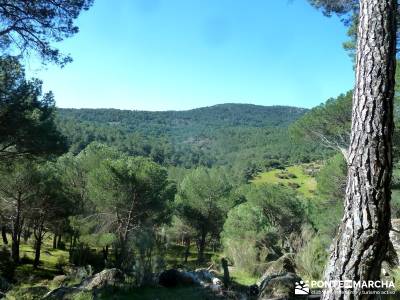
<path fill-rule="evenodd" d="M 204 127 L 286 127 L 307 109 L 254 104 L 218 104 L 184 111 L 137 111 L 119 109 L 58 109 L 62 118 L 81 122 L 120 125 L 148 133 Z M 196 130 L 198 131 L 198 130 Z"/>

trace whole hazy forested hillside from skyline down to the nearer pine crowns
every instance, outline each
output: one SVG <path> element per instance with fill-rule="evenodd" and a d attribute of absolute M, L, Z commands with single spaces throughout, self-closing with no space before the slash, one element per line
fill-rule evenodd
<path fill-rule="evenodd" d="M 306 112 L 249 104 L 163 112 L 58 109 L 57 123 L 74 153 L 97 141 L 165 165 L 190 168 L 240 162 L 263 169 L 270 163 L 321 157 L 315 145 L 294 145 L 288 135 L 288 126 Z"/>

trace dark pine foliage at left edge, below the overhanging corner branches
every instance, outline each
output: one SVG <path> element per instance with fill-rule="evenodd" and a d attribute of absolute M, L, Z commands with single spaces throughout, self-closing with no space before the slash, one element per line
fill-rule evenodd
<path fill-rule="evenodd" d="M 42 95 L 40 80 L 26 80 L 17 59 L 0 58 L 0 90 L 0 158 L 66 150 L 54 123 L 52 93 Z"/>

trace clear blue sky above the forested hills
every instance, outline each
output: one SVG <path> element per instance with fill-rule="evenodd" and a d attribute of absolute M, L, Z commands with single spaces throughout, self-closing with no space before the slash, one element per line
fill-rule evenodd
<path fill-rule="evenodd" d="M 71 64 L 28 67 L 59 107 L 313 107 L 354 82 L 346 28 L 306 0 L 95 0 L 77 25 Z"/>

